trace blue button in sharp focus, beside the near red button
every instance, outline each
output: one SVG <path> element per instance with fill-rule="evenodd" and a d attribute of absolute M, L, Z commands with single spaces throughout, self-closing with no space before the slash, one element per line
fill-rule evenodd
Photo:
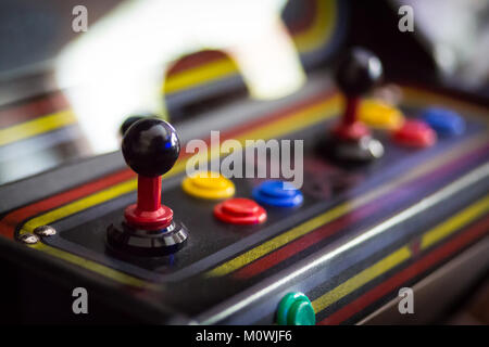
<path fill-rule="evenodd" d="M 253 189 L 253 198 L 261 204 L 278 207 L 293 207 L 302 204 L 300 190 L 285 181 L 265 181 Z"/>

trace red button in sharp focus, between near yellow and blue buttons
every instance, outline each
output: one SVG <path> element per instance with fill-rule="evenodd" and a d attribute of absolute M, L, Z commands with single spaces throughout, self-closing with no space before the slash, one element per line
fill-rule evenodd
<path fill-rule="evenodd" d="M 231 224 L 258 224 L 266 220 L 265 209 L 249 198 L 229 198 L 214 207 L 214 216 Z"/>

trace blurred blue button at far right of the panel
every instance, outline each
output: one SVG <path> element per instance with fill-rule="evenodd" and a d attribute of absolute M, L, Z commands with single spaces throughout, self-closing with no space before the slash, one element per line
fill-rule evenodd
<path fill-rule="evenodd" d="M 464 119 L 452 110 L 429 107 L 423 112 L 422 118 L 442 137 L 462 134 L 465 130 Z"/>

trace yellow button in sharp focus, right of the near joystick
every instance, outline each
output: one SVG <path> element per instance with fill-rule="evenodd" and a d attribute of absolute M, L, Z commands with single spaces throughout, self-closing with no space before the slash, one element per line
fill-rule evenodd
<path fill-rule="evenodd" d="M 217 172 L 214 176 L 209 171 L 187 177 L 181 188 L 187 194 L 200 198 L 218 200 L 235 195 L 235 184 L 230 180 Z"/>

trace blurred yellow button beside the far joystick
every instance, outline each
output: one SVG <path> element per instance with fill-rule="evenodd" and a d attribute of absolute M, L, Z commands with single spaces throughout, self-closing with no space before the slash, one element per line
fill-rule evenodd
<path fill-rule="evenodd" d="M 369 127 L 389 130 L 399 129 L 404 123 L 404 116 L 399 108 L 375 99 L 362 101 L 359 119 Z"/>

